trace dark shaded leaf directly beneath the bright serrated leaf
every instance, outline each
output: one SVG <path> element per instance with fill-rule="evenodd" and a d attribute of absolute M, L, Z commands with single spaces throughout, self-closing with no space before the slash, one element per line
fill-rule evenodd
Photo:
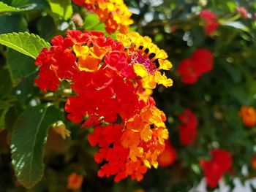
<path fill-rule="evenodd" d="M 18 85 L 23 78 L 29 77 L 37 71 L 33 58 L 12 49 L 7 50 L 7 68 L 9 69 L 13 86 Z"/>

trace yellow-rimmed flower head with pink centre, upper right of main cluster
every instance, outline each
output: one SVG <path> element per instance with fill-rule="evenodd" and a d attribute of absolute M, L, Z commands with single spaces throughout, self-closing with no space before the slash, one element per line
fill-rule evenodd
<path fill-rule="evenodd" d="M 140 77 L 143 88 L 154 89 L 157 84 L 165 87 L 173 85 L 173 80 L 160 72 L 161 69 L 169 70 L 172 67 L 170 61 L 167 61 L 167 53 L 154 45 L 149 37 L 130 32 L 126 35 L 118 34 L 117 40 L 126 48 L 128 61 Z"/>

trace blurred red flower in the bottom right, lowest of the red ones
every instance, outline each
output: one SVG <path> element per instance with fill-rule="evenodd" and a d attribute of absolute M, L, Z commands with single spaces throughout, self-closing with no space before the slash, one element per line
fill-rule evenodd
<path fill-rule="evenodd" d="M 227 150 L 211 150 L 211 160 L 201 160 L 200 165 L 203 167 L 206 177 L 206 183 L 209 187 L 215 188 L 222 175 L 228 172 L 233 164 L 230 153 Z"/>

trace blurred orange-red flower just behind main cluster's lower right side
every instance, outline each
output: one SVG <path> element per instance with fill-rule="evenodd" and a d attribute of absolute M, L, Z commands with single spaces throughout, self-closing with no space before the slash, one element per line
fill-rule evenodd
<path fill-rule="evenodd" d="M 157 161 L 159 166 L 167 167 L 176 160 L 176 150 L 170 145 L 169 140 L 165 140 L 165 150 L 158 156 Z"/>

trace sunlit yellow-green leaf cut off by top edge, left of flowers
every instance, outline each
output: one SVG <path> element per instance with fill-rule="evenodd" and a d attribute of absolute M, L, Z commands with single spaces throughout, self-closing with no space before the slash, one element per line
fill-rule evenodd
<path fill-rule="evenodd" d="M 68 20 L 73 14 L 70 0 L 48 0 L 53 15 L 58 19 Z"/>

